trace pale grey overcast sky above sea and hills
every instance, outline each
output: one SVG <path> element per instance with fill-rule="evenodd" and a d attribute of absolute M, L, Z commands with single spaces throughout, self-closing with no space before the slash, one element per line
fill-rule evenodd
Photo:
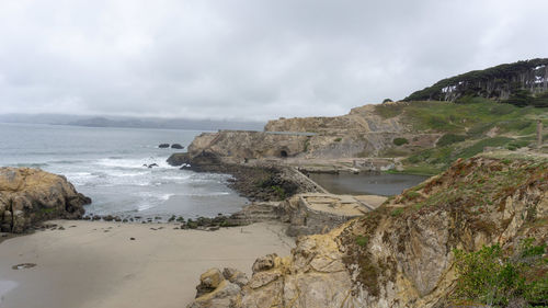
<path fill-rule="evenodd" d="M 339 115 L 548 57 L 548 1 L 0 0 L 0 113 Z"/>

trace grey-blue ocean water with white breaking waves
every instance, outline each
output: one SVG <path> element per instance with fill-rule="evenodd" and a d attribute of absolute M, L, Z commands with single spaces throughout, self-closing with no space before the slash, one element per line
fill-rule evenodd
<path fill-rule="evenodd" d="M 33 167 L 65 175 L 92 198 L 87 214 L 194 218 L 231 214 L 247 202 L 226 185 L 229 175 L 170 167 L 175 149 L 202 132 L 1 124 L 0 166 Z M 147 168 L 144 164 L 157 163 Z"/>

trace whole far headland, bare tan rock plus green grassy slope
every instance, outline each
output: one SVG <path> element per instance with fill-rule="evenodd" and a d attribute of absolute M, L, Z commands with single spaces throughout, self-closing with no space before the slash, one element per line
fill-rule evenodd
<path fill-rule="evenodd" d="M 174 153 L 169 161 L 193 161 L 206 152 L 230 163 L 287 164 L 310 172 L 396 170 L 432 175 L 484 149 L 538 147 L 537 122 L 548 127 L 547 116 L 546 109 L 482 98 L 466 103 L 386 102 L 342 116 L 271 121 L 264 132 L 205 133 L 187 153 Z"/>

